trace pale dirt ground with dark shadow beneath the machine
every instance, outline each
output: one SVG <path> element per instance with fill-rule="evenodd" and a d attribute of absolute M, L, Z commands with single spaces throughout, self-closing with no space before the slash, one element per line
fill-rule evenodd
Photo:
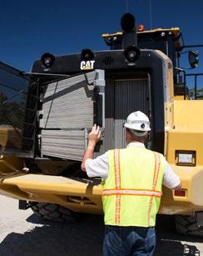
<path fill-rule="evenodd" d="M 102 255 L 103 218 L 87 215 L 80 223 L 42 221 L 31 209 L 0 196 L 0 256 Z M 203 239 L 177 234 L 171 216 L 157 220 L 155 256 L 202 255 Z"/>

